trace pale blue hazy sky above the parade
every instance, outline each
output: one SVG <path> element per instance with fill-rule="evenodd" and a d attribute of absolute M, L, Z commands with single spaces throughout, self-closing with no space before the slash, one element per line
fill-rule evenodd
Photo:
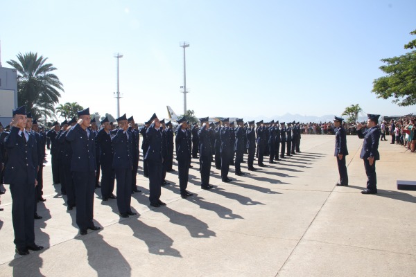
<path fill-rule="evenodd" d="M 1 62 L 37 52 L 58 68 L 61 102 L 116 116 L 116 58 L 121 114 L 137 122 L 166 105 L 196 116 L 341 114 L 360 104 L 370 114 L 408 114 L 376 99 L 372 82 L 385 57 L 415 39 L 415 0 L 0 0 Z M 276 118 L 279 119 L 279 118 Z"/>

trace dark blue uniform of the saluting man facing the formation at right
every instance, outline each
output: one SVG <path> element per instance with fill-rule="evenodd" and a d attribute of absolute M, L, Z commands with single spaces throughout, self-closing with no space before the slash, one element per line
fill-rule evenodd
<path fill-rule="evenodd" d="M 360 158 L 364 161 L 365 174 L 367 175 L 367 190 L 377 192 L 377 178 L 376 178 L 376 161 L 380 159 L 379 141 L 380 129 L 377 126 L 371 127 L 363 132 L 363 128 L 357 131 L 358 138 L 364 139 L 363 147 L 361 148 Z M 370 166 L 367 160 L 369 157 L 374 157 L 374 163 Z"/>

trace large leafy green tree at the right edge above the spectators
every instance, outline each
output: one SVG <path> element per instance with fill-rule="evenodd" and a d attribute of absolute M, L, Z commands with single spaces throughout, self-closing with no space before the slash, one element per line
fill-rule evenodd
<path fill-rule="evenodd" d="M 416 30 L 410 33 L 416 35 Z M 416 39 L 404 46 L 405 49 L 416 48 Z M 416 104 L 416 50 L 381 60 L 386 65 L 380 66 L 386 76 L 373 82 L 377 98 L 394 98 L 392 102 L 399 106 Z"/>

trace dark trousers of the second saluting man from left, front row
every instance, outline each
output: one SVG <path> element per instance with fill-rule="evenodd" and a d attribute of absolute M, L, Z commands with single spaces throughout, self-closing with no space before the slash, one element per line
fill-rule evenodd
<path fill-rule="evenodd" d="M 94 226 L 95 172 L 73 171 L 72 179 L 76 195 L 76 224 L 84 231 Z"/>

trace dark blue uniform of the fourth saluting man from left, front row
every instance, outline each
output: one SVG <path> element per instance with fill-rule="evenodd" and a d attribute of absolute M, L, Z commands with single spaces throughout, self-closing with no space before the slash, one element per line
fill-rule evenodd
<path fill-rule="evenodd" d="M 149 200 L 150 204 L 158 205 L 160 202 L 162 184 L 162 134 L 155 129 L 153 123 L 146 131 L 148 150 L 144 160 L 148 165 L 149 172 Z"/>

